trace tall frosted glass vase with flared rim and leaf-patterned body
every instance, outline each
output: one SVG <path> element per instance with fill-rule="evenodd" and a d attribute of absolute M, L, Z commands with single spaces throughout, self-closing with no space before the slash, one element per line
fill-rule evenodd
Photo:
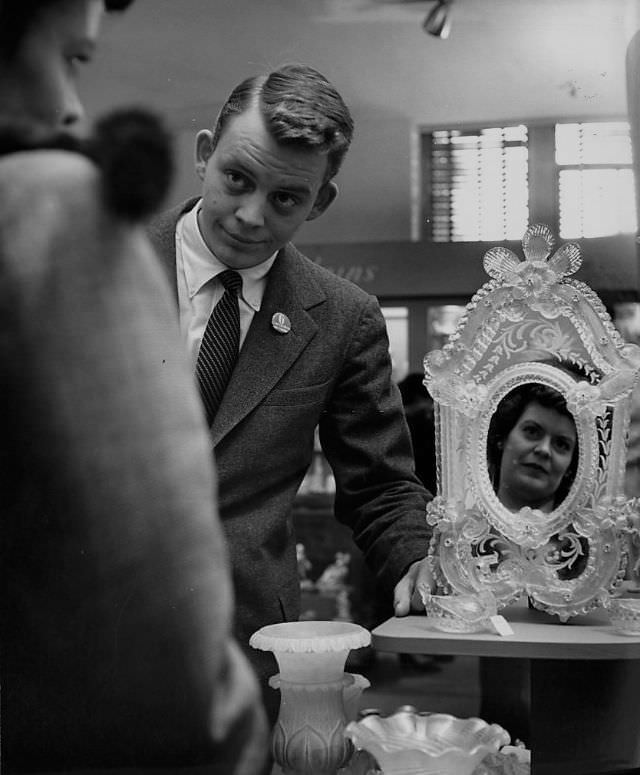
<path fill-rule="evenodd" d="M 370 642 L 364 627 L 337 621 L 283 622 L 251 636 L 250 645 L 273 652 L 280 669 L 271 679 L 280 689 L 272 752 L 287 775 L 335 775 L 349 761 L 345 703 L 352 715 L 366 679 L 351 680 L 344 666 L 352 649 Z"/>

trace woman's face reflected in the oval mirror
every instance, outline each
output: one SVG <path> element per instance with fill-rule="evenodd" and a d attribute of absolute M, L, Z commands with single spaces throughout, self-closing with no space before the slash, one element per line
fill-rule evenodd
<path fill-rule="evenodd" d="M 552 511 L 577 444 L 573 420 L 530 403 L 504 441 L 498 498 L 510 509 Z"/>

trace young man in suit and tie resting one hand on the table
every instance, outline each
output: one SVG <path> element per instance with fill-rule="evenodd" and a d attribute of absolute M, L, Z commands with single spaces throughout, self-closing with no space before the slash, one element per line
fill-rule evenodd
<path fill-rule="evenodd" d="M 151 229 L 210 424 L 245 647 L 263 625 L 299 615 L 291 510 L 316 426 L 336 478 L 336 516 L 394 595 L 397 614 L 408 613 L 416 582 L 429 580 L 429 494 L 414 474 L 378 303 L 291 244 L 335 199 L 352 131 L 342 98 L 311 67 L 250 78 L 213 131 L 197 135 L 202 196 Z M 229 348 L 237 362 L 220 400 L 210 390 L 218 381 L 211 328 L 229 270 L 237 275 L 230 293 L 239 331 Z M 263 682 L 276 672 L 270 655 L 248 653 Z"/>

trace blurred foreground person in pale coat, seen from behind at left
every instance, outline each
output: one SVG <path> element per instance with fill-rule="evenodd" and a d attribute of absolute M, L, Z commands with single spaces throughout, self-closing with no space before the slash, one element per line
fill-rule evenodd
<path fill-rule="evenodd" d="M 255 775 L 266 718 L 144 186 L 105 198 L 51 150 L 83 147 L 76 72 L 129 3 L 0 0 L 2 771 Z"/>

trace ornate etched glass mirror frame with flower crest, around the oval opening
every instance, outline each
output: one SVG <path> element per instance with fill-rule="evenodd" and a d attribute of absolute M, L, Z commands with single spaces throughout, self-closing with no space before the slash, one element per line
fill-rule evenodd
<path fill-rule="evenodd" d="M 491 279 L 424 361 L 438 464 L 429 556 L 445 591 L 489 590 L 501 606 L 527 595 L 566 620 L 620 585 L 625 534 L 637 532 L 638 502 L 623 485 L 640 348 L 624 342 L 597 294 L 572 277 L 582 263 L 577 244 L 553 252 L 550 230 L 536 224 L 522 247 L 524 260 L 504 247 L 484 255 Z M 560 393 L 576 429 L 575 474 L 548 512 L 503 505 L 487 460 L 498 405 L 528 384 Z"/>

